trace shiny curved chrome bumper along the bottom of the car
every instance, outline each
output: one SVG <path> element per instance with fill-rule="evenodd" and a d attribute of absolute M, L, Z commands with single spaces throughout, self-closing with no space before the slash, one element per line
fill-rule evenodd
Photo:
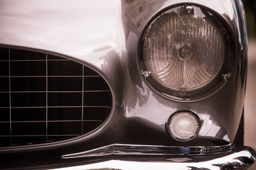
<path fill-rule="evenodd" d="M 145 155 L 142 155 L 145 157 Z M 203 157 L 203 159 L 202 159 Z M 236 152 L 225 154 L 214 154 L 208 156 L 187 156 L 187 157 L 165 157 L 163 161 L 136 161 L 131 159 L 117 159 L 97 162 L 94 164 L 85 164 L 79 166 L 68 166 L 64 168 L 57 168 L 55 170 L 72 170 L 72 169 L 249 169 L 256 161 L 256 152 L 250 148 L 245 147 Z"/>

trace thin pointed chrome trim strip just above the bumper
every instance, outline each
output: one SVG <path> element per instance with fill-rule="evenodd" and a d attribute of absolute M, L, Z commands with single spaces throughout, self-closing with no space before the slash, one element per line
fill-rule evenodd
<path fill-rule="evenodd" d="M 137 154 L 137 155 L 206 155 L 231 152 L 233 145 L 209 147 L 169 147 L 158 145 L 125 145 L 113 144 L 105 147 L 91 149 L 75 154 L 65 154 L 63 159 L 79 157 L 99 157 L 112 154 Z"/>

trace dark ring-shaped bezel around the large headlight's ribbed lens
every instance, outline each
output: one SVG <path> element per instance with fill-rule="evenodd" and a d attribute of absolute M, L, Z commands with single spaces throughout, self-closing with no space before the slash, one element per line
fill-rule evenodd
<path fill-rule="evenodd" d="M 146 40 L 146 36 L 151 31 L 151 26 L 154 25 L 154 23 L 156 23 L 156 21 L 158 21 L 159 18 L 161 18 L 165 13 L 175 12 L 177 8 L 186 8 L 187 6 L 192 7 L 192 10 L 190 11 L 191 13 L 193 13 L 194 10 L 196 10 L 197 13 L 203 13 L 206 20 L 210 22 L 216 29 L 218 29 L 218 33 L 220 33 L 220 36 L 223 39 L 223 43 L 225 45 L 223 63 L 213 79 L 211 79 L 207 84 L 200 86 L 195 90 L 189 91 L 170 89 L 166 86 L 163 86 L 163 84 L 159 84 L 159 82 L 157 82 L 154 78 L 154 74 L 151 72 L 151 70 L 146 67 L 144 59 L 144 42 Z M 198 99 L 206 98 L 207 96 L 210 96 L 211 94 L 214 94 L 216 91 L 218 91 L 231 77 L 238 55 L 236 50 L 235 36 L 232 32 L 232 28 L 230 28 L 225 19 L 218 13 L 215 13 L 213 10 L 195 4 L 177 4 L 176 6 L 165 8 L 156 13 L 156 15 L 151 18 L 151 20 L 146 24 L 146 26 L 144 26 L 144 29 L 142 30 L 138 49 L 139 69 L 146 83 L 162 96 L 177 101 L 195 101 Z"/>

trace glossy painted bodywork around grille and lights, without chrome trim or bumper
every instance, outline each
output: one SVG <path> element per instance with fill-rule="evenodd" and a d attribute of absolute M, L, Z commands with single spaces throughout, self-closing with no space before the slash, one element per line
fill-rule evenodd
<path fill-rule="evenodd" d="M 3 167 L 68 164 L 62 155 L 84 152 L 114 143 L 164 146 L 228 145 L 242 115 L 245 95 L 247 46 L 236 1 L 187 1 L 211 8 L 233 32 L 237 63 L 225 85 L 197 101 L 174 101 L 146 84 L 138 65 L 143 29 L 166 8 L 183 1 L 0 1 L 0 44 L 48 51 L 95 69 L 110 85 L 112 113 L 100 128 L 75 140 L 53 145 L 1 149 Z M 243 50 L 241 50 L 241 48 Z M 228 73 L 227 73 L 228 74 Z M 224 81 L 224 80 L 223 80 Z M 191 111 L 201 121 L 199 134 L 190 142 L 177 142 L 166 123 L 177 111 Z M 33 157 L 39 153 L 38 157 Z M 19 158 L 23 159 L 19 159 Z M 55 157 L 56 159 L 53 159 Z M 89 161 L 91 159 L 75 160 Z M 42 163 L 41 163 L 42 164 Z"/>

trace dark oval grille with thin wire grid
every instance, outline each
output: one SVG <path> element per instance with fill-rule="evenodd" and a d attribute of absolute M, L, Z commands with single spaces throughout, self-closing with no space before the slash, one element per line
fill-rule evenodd
<path fill-rule="evenodd" d="M 41 52 L 0 55 L 0 147 L 78 137 L 109 115 L 110 88 L 92 69 Z"/>

